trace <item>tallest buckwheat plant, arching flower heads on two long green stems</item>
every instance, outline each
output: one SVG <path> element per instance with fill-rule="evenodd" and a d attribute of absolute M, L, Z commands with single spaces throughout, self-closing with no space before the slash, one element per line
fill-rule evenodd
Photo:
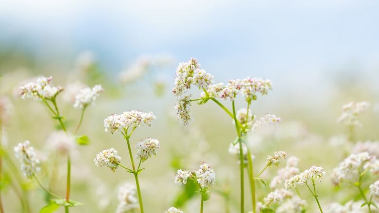
<path fill-rule="evenodd" d="M 247 158 L 247 170 L 249 174 L 249 181 L 252 193 L 253 211 L 256 212 L 256 198 L 255 198 L 255 177 L 253 171 L 253 161 L 251 150 L 245 142 L 248 133 L 256 132 L 258 129 L 268 125 L 276 125 L 280 122 L 280 118 L 275 115 L 267 114 L 259 121 L 253 122 L 254 115 L 250 109 L 253 100 L 257 100 L 257 95 L 268 94 L 272 89 L 272 82 L 270 80 L 263 80 L 261 78 L 244 78 L 244 79 L 231 79 L 224 85 L 224 83 L 213 84 L 214 76 L 207 73 L 200 68 L 199 62 L 191 58 L 187 62 L 180 63 L 176 69 L 176 77 L 174 81 L 174 88 L 172 89 L 173 95 L 177 96 L 178 100 L 175 104 L 177 109 L 176 117 L 183 125 L 188 125 L 193 119 L 190 116 L 190 107 L 192 102 L 197 102 L 198 105 L 204 105 L 209 100 L 216 103 L 218 106 L 231 117 L 234 122 L 237 138 L 233 145 L 239 144 L 239 150 L 243 150 L 243 145 L 246 145 L 247 153 L 243 151 L 239 153 L 240 162 L 244 162 Z M 202 90 L 200 98 L 192 99 L 192 94 L 187 91 L 191 86 Z M 237 95 L 241 93 L 244 101 L 247 104 L 246 108 L 242 108 L 236 112 L 235 100 Z M 218 99 L 229 100 L 232 105 L 230 111 Z M 230 150 L 230 148 L 229 148 Z M 240 163 L 240 177 L 241 177 L 241 213 L 244 213 L 244 163 Z"/>

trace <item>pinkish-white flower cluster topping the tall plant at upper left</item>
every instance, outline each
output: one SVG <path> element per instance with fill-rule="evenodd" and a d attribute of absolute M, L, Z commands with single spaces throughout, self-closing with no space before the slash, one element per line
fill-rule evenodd
<path fill-rule="evenodd" d="M 20 95 L 22 99 L 33 98 L 34 100 L 40 100 L 42 98 L 52 100 L 57 94 L 63 91 L 63 88 L 51 87 L 49 85 L 52 80 L 50 77 L 40 77 L 37 82 L 30 82 L 20 87 Z"/>

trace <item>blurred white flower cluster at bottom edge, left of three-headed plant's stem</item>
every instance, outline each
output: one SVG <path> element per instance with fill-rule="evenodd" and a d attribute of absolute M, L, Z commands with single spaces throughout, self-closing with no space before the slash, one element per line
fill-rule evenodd
<path fill-rule="evenodd" d="M 117 206 L 116 213 L 129 213 L 138 209 L 138 199 L 136 198 L 136 186 L 126 183 L 119 188 L 119 205 Z"/>

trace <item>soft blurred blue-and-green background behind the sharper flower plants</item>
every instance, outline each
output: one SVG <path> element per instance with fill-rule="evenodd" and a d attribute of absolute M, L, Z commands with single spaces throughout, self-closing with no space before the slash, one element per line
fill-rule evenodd
<path fill-rule="evenodd" d="M 216 83 L 247 76 L 273 81 L 274 89 L 259 96 L 252 110 L 258 118 L 276 114 L 282 124 L 276 135 L 252 137 L 257 165 L 283 149 L 302 159 L 301 170 L 313 164 L 331 170 L 344 156 L 341 147 L 329 142 L 346 133 L 336 123 L 342 105 L 370 102 L 356 138 L 379 138 L 375 125 L 379 118 L 378 8 L 375 0 L 0 0 L 0 96 L 7 96 L 12 106 L 2 145 L 12 156 L 13 146 L 25 140 L 43 150 L 56 125 L 42 103 L 17 96 L 22 82 L 52 75 L 52 85 L 66 88 L 58 105 L 72 124 L 71 132 L 80 111 L 72 108 L 64 93 L 77 82 L 89 87 L 102 84 L 105 91 L 87 109 L 79 132 L 88 135 L 91 144 L 77 147 L 73 163 L 72 197 L 86 205 L 72 212 L 114 212 L 118 186 L 134 183 L 120 169 L 113 173 L 93 163 L 103 148 L 114 147 L 127 164 L 121 135 L 103 130 L 104 118 L 127 109 L 153 111 L 157 117 L 153 127 L 133 134 L 135 142 L 146 137 L 161 142 L 158 155 L 144 162 L 146 170 L 141 174 L 148 213 L 180 203 L 183 187 L 174 184 L 176 169 L 197 168 L 202 161 L 214 165 L 220 183 L 217 190 L 228 190 L 224 187 L 229 185 L 231 195 L 238 197 L 238 186 L 231 184 L 239 178 L 238 166 L 227 153 L 235 138 L 232 121 L 214 103 L 193 105 L 194 121 L 189 126 L 181 126 L 175 118 L 176 99 L 171 94 L 175 70 L 179 62 L 195 57 Z M 192 93 L 200 96 L 196 89 Z M 239 99 L 237 106 L 245 107 L 243 98 Z M 231 107 L 228 101 L 223 103 Z M 63 160 L 63 182 L 64 165 Z M 323 184 L 325 192 L 332 190 L 328 180 Z M 30 187 L 37 212 L 45 205 L 43 193 L 35 184 Z M 268 192 L 263 188 L 261 195 Z M 17 203 L 12 190 L 4 193 L 5 203 Z M 215 212 L 214 208 L 224 212 L 224 206 L 217 205 L 224 202 L 223 196 L 213 194 L 214 200 L 205 203 L 207 212 Z M 197 211 L 197 198 L 181 203 L 185 212 Z M 238 210 L 239 199 L 233 199 L 231 212 Z M 334 199 L 326 196 L 324 202 Z M 5 208 L 20 211 L 17 204 Z"/>

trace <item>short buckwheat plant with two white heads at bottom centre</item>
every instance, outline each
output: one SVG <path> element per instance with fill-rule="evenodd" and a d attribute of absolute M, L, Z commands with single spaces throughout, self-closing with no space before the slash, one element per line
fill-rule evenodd
<path fill-rule="evenodd" d="M 187 171 L 179 169 L 176 172 L 175 183 L 179 186 L 187 184 L 187 180 L 192 180 L 199 185 L 199 193 L 201 194 L 200 213 L 203 213 L 204 201 L 207 201 L 210 198 L 209 189 L 215 184 L 216 174 L 213 169 L 210 168 L 209 164 L 203 162 L 203 164 L 200 165 L 199 170 Z"/>

